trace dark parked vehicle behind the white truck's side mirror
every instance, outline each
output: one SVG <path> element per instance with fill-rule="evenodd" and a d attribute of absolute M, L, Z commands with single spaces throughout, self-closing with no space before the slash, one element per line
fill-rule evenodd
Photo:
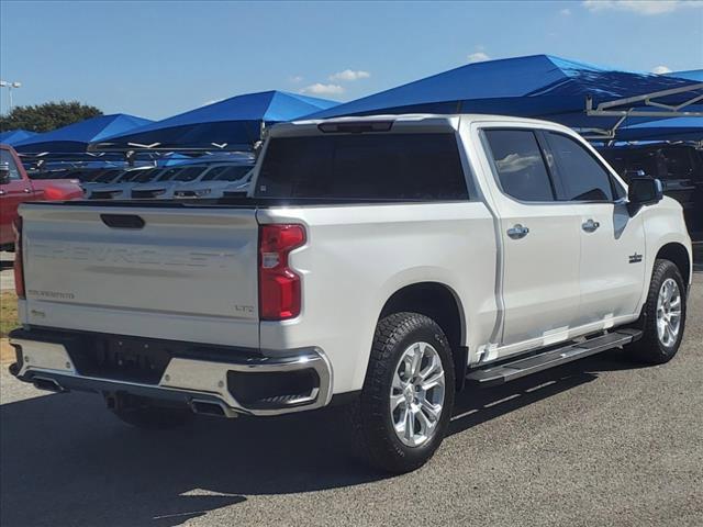
<path fill-rule="evenodd" d="M 625 181 L 643 171 L 663 183 L 665 194 L 683 208 L 691 234 L 703 239 L 703 153 L 693 145 L 646 144 L 601 149 Z"/>

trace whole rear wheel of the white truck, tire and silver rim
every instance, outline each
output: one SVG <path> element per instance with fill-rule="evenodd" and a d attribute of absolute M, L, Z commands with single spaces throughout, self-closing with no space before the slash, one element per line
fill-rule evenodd
<path fill-rule="evenodd" d="M 390 472 L 422 467 L 444 439 L 454 390 L 451 349 L 442 328 L 417 313 L 382 318 L 352 411 L 357 447 Z"/>

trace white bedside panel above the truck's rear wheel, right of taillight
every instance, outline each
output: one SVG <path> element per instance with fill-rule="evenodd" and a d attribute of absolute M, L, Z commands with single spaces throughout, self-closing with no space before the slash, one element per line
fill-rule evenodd
<path fill-rule="evenodd" d="M 381 310 L 405 285 L 446 285 L 460 304 L 464 344 L 488 340 L 496 311 L 496 248 L 482 203 L 260 210 L 257 220 L 302 223 L 308 233 L 290 256 L 302 278 L 301 315 L 261 322 L 261 348 L 321 348 L 333 367 L 335 393 L 362 386 Z"/>

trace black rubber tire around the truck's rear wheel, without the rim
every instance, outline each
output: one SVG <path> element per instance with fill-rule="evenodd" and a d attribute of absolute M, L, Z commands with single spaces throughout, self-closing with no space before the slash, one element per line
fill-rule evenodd
<path fill-rule="evenodd" d="M 393 428 L 390 393 L 399 360 L 413 343 L 427 343 L 437 351 L 444 369 L 445 389 L 442 413 L 433 434 L 424 444 L 410 447 L 400 440 Z M 444 439 L 454 407 L 455 385 L 449 343 L 432 318 L 417 313 L 395 313 L 379 321 L 364 389 L 350 407 L 350 425 L 358 453 L 373 467 L 393 473 L 422 467 Z"/>

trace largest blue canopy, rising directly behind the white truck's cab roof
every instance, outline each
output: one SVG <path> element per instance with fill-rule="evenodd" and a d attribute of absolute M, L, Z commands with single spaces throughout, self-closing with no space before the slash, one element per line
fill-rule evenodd
<path fill-rule="evenodd" d="M 461 66 L 309 117 L 492 113 L 605 131 L 616 127 L 628 115 L 661 116 L 659 113 L 665 111 L 659 104 L 667 108 L 691 104 L 699 97 L 703 97 L 703 85 L 691 80 L 534 55 Z M 657 106 L 651 105 L 651 100 Z M 700 111 L 701 106 L 695 109 Z"/>

